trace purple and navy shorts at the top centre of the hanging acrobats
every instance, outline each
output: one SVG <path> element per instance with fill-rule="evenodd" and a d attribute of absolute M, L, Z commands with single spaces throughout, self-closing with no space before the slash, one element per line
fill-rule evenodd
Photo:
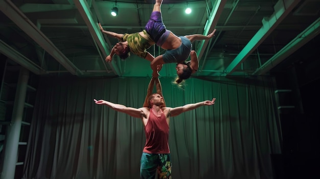
<path fill-rule="evenodd" d="M 166 29 L 166 26 L 162 21 L 162 15 L 159 11 L 153 11 L 151 13 L 145 29 L 158 46 L 161 46 L 167 40 L 170 34 L 170 31 Z"/>

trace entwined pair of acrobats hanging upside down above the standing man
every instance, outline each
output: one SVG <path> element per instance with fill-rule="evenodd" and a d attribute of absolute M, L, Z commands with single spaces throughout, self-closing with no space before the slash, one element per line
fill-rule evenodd
<path fill-rule="evenodd" d="M 99 23 L 102 33 L 119 39 L 121 42 L 113 46 L 110 55 L 106 57 L 106 61 L 110 62 L 113 55 L 118 55 L 121 59 L 126 59 L 129 52 L 144 58 L 151 62 L 153 75 L 156 76 L 157 66 L 165 63 L 177 63 L 176 70 L 180 83 L 184 79 L 188 79 L 192 73 L 198 69 L 198 58 L 194 50 L 191 50 L 192 42 L 195 40 L 209 40 L 214 36 L 216 30 L 211 34 L 204 36 L 201 34 L 176 36 L 171 31 L 167 30 L 162 20 L 161 4 L 163 0 L 156 0 L 150 19 L 145 26 L 145 30 L 133 34 L 117 34 L 114 32 L 104 31 Z M 153 44 L 157 44 L 166 53 L 154 58 L 147 49 Z M 191 57 L 189 62 L 185 62 L 188 57 Z"/>

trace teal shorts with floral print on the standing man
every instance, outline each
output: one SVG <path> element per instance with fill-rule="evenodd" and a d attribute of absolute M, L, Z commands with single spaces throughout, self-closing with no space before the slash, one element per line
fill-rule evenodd
<path fill-rule="evenodd" d="M 157 170 L 158 179 L 171 179 L 170 154 L 142 153 L 140 166 L 140 179 L 154 178 Z"/>

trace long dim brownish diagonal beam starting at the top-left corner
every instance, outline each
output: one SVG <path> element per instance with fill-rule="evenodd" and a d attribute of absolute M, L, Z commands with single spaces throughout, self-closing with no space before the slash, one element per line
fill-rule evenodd
<path fill-rule="evenodd" d="M 82 72 L 50 41 L 50 39 L 45 36 L 11 1 L 0 0 L 0 10 L 71 74 L 82 74 Z"/>

